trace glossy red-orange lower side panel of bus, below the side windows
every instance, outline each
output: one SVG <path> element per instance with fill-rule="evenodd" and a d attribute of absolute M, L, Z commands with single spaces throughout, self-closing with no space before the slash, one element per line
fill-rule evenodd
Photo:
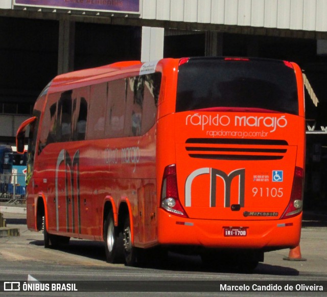
<path fill-rule="evenodd" d="M 152 129 L 138 141 L 137 146 L 133 139 L 124 143 L 112 139 L 92 142 L 92 146 L 87 142 L 64 146 L 55 143 L 43 149 L 39 155 L 40 163 L 35 165 L 38 170 L 34 171 L 33 181 L 34 187 L 46 193 L 48 231 L 93 240 L 101 237 L 101 202 L 106 195 L 113 197 L 116 208 L 121 200 L 130 201 L 133 221 L 137 222 L 135 228 L 145 232 L 148 231 L 146 225 L 155 225 L 153 219 L 150 219 L 151 224 L 146 219 L 146 216 L 151 217 L 155 213 L 155 203 L 141 204 L 143 197 L 148 198 L 155 193 L 154 140 Z M 92 175 L 95 177 L 90 177 Z M 143 214 L 139 218 L 137 214 L 142 212 L 141 209 Z M 140 226 L 139 219 L 142 221 Z M 153 234 L 155 228 L 150 229 L 150 234 Z M 136 242 L 144 242 L 149 237 L 154 240 L 153 235 L 142 234 Z"/>

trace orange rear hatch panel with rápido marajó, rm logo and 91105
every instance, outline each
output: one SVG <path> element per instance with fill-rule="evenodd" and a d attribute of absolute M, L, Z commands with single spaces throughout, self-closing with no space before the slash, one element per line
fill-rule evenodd
<path fill-rule="evenodd" d="M 246 220 L 251 216 L 261 220 L 262 216 L 282 216 L 298 166 L 298 139 L 289 134 L 298 129 L 298 117 L 193 112 L 177 113 L 175 118 L 178 190 L 190 218 Z M 241 118 L 250 119 L 251 126 L 238 127 Z M 278 119 L 283 120 L 282 127 L 271 127 Z M 216 127 L 219 121 L 224 125 Z M 213 132 L 218 135 L 211 135 Z M 240 208 L 233 211 L 232 205 Z"/>

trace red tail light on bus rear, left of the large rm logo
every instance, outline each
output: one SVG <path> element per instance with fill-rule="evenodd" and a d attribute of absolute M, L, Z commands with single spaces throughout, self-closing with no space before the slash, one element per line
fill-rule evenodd
<path fill-rule="evenodd" d="M 175 164 L 167 166 L 162 177 L 161 208 L 176 216 L 188 217 L 178 196 Z"/>

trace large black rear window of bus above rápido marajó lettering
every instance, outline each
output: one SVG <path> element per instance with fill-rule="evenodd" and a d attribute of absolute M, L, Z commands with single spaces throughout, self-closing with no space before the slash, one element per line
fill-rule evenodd
<path fill-rule="evenodd" d="M 191 58 L 179 66 L 176 111 L 255 108 L 298 115 L 294 70 L 278 60 Z"/>

